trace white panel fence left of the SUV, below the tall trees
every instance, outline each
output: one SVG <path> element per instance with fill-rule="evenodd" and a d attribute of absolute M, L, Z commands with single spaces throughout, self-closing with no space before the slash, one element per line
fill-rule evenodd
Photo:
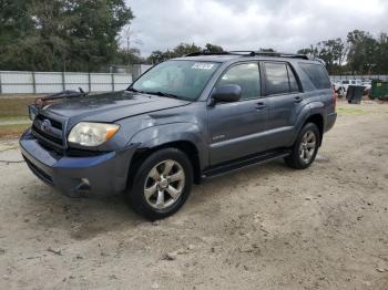
<path fill-rule="evenodd" d="M 0 94 L 41 94 L 64 90 L 111 92 L 132 83 L 127 73 L 14 72 L 0 71 Z"/>

